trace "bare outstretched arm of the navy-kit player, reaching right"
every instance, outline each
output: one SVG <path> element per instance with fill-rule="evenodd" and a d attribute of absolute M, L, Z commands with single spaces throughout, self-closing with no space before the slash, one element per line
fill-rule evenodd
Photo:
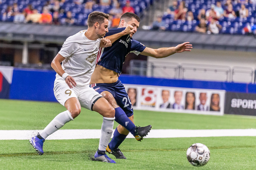
<path fill-rule="evenodd" d="M 192 44 L 189 42 L 184 42 L 182 44 L 177 45 L 176 47 L 168 47 L 168 48 L 148 48 L 146 47 L 140 54 L 148 55 L 154 58 L 164 58 L 175 53 L 181 53 L 183 51 L 191 51 Z"/>

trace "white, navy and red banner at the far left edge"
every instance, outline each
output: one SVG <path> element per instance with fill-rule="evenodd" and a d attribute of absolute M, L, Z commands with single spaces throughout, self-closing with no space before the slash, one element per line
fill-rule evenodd
<path fill-rule="evenodd" d="M 13 67 L 0 66 L 0 99 L 9 99 Z"/>

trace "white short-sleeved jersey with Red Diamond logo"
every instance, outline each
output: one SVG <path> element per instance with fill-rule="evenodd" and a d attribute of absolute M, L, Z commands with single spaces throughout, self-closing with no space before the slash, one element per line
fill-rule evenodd
<path fill-rule="evenodd" d="M 84 33 L 87 30 L 80 31 L 67 38 L 62 45 L 59 54 L 66 59 L 62 62 L 62 69 L 73 77 L 77 86 L 89 86 L 92 73 L 95 69 L 97 53 L 100 47 L 100 38 L 89 40 Z M 56 74 L 55 82 L 65 80 Z"/>

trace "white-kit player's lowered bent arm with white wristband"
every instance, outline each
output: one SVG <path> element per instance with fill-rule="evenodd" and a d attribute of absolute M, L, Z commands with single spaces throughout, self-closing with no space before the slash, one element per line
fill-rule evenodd
<path fill-rule="evenodd" d="M 65 57 L 63 57 L 62 55 L 60 55 L 59 53 L 53 58 L 51 66 L 52 68 L 56 71 L 56 73 L 58 73 L 68 84 L 69 88 L 73 88 L 76 87 L 76 81 L 74 80 L 74 78 L 72 78 L 71 76 L 68 75 L 68 73 L 66 73 L 60 63 L 63 62 L 65 60 Z"/>

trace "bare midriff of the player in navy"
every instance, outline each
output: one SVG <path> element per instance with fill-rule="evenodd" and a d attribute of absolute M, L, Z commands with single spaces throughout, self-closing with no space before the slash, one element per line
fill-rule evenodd
<path fill-rule="evenodd" d="M 92 73 L 90 84 L 94 83 L 115 83 L 118 80 L 118 73 L 108 70 L 101 65 L 96 65 Z"/>

